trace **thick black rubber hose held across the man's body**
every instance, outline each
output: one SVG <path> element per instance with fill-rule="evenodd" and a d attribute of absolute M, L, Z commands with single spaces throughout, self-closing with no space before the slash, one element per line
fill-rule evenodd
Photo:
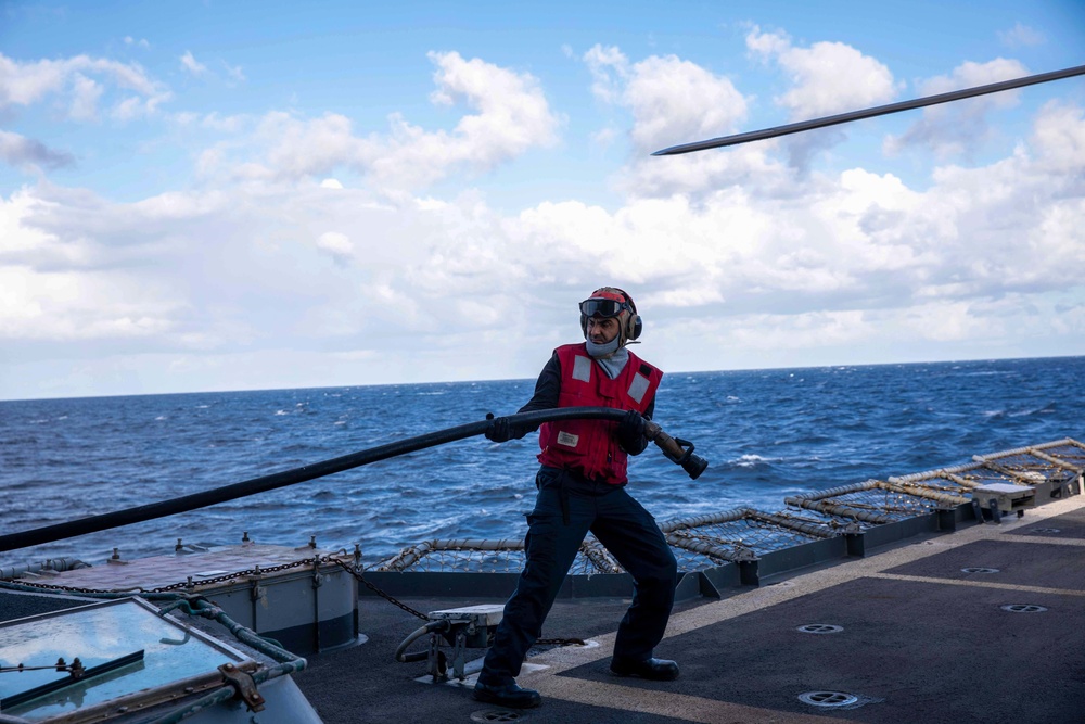
<path fill-rule="evenodd" d="M 554 420 L 577 419 L 613 420 L 616 422 L 624 416 L 625 410 L 610 407 L 565 407 L 560 409 L 536 410 L 534 412 L 521 412 L 520 415 L 510 415 L 509 418 L 514 420 L 516 424 L 538 425 L 544 422 L 551 422 Z M 54 525 L 46 525 L 43 528 L 36 528 L 29 531 L 22 531 L 20 533 L 0 535 L 0 551 L 28 548 L 29 546 L 41 545 L 43 543 L 53 543 L 65 538 L 74 538 L 78 535 L 97 533 L 98 531 L 120 528 L 122 525 L 131 525 L 132 523 L 142 523 L 143 521 L 154 520 L 155 518 L 164 518 L 179 512 L 188 512 L 189 510 L 195 510 L 197 508 L 206 508 L 207 506 L 226 503 L 227 500 L 242 498 L 246 495 L 255 495 L 256 493 L 273 491 L 278 487 L 285 487 L 286 485 L 294 485 L 295 483 L 304 483 L 305 481 L 312 480 L 315 478 L 323 478 L 324 475 L 343 472 L 344 470 L 369 465 L 370 462 L 386 460 L 387 458 L 396 457 L 397 455 L 406 455 L 407 453 L 414 453 L 416 450 L 425 449 L 427 447 L 435 447 L 436 445 L 452 443 L 457 440 L 481 435 L 486 432 L 488 427 L 489 420 L 469 422 L 468 424 L 461 424 L 456 428 L 438 430 L 424 435 L 418 435 L 417 437 L 408 437 L 395 443 L 371 447 L 368 450 L 352 453 L 350 455 L 332 458 L 331 460 L 314 462 L 312 465 L 302 466 L 301 468 L 294 468 L 292 470 L 283 470 L 282 472 L 272 473 L 270 475 L 253 478 L 252 480 L 234 483 L 232 485 L 225 485 L 222 487 L 216 487 L 202 493 L 182 495 L 179 498 L 150 503 L 148 505 L 128 508 L 126 510 L 116 510 L 114 512 L 91 516 L 89 518 L 80 518 L 79 520 L 73 520 L 65 523 L 56 523 Z"/>

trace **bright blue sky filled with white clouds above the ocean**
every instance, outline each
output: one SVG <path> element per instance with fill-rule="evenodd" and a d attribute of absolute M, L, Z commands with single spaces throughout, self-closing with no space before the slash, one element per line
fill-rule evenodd
<path fill-rule="evenodd" d="M 0 2 L 0 398 L 1085 354 L 1078 2 Z"/>

